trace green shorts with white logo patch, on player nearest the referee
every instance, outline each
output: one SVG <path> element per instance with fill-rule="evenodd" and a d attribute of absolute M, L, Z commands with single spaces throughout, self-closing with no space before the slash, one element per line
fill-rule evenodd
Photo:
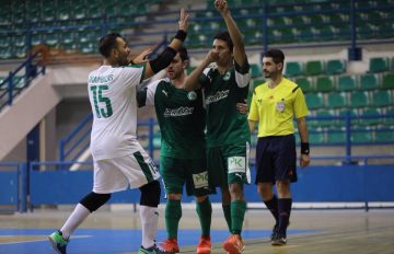
<path fill-rule="evenodd" d="M 207 148 L 209 186 L 227 187 L 229 184 L 250 184 L 250 145 Z"/>

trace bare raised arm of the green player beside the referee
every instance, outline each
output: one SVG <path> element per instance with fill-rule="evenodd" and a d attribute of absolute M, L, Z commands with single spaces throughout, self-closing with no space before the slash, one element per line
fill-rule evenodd
<path fill-rule="evenodd" d="M 246 62 L 246 53 L 245 53 L 245 45 L 243 42 L 243 37 L 241 34 L 240 28 L 237 27 L 234 19 L 231 15 L 231 12 L 229 10 L 228 3 L 225 0 L 216 0 L 215 1 L 216 9 L 220 12 L 222 15 L 225 25 L 228 27 L 230 37 L 234 44 L 234 60 L 239 66 L 244 66 Z"/>

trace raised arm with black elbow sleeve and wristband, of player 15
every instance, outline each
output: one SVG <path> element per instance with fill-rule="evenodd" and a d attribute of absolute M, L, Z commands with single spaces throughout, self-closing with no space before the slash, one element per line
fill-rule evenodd
<path fill-rule="evenodd" d="M 159 71 L 165 69 L 171 64 L 172 59 L 175 57 L 177 50 L 181 48 L 183 42 L 186 38 L 187 21 L 188 13 L 184 9 L 181 9 L 178 22 L 179 30 L 169 46 L 155 59 L 152 59 L 147 64 L 143 72 L 143 79 L 152 77 Z"/>

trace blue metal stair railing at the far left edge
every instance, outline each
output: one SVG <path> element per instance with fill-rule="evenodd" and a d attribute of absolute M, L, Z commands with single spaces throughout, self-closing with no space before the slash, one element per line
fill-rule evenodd
<path fill-rule="evenodd" d="M 37 50 L 27 57 L 27 59 L 14 71 L 10 71 L 9 76 L 0 83 L 0 99 L 8 95 L 8 100 L 0 104 L 0 111 L 7 105 L 12 105 L 13 99 L 26 89 L 33 79 L 40 73 L 45 74 L 45 66 L 34 64 L 34 60 L 39 57 L 40 53 L 40 50 Z M 22 72 L 22 70 L 24 70 L 24 73 L 18 76 L 18 73 Z M 19 77 L 18 81 L 14 80 L 15 77 Z M 21 82 L 24 82 L 22 86 L 16 86 Z M 1 91 L 3 88 L 5 89 Z M 18 90 L 15 90 L 16 88 Z"/>

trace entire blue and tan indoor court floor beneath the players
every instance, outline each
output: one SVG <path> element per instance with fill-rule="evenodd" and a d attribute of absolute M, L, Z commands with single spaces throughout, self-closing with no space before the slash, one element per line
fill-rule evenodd
<path fill-rule="evenodd" d="M 0 215 L 0 254 L 55 253 L 47 235 L 58 229 L 70 211 L 35 210 Z M 165 239 L 164 206 L 160 207 L 158 241 Z M 394 254 L 394 209 L 293 210 L 288 229 L 288 244 L 271 246 L 273 219 L 266 209 L 250 209 L 245 215 L 243 253 L 371 253 Z M 137 253 L 141 232 L 138 212 L 132 209 L 102 209 L 76 230 L 68 245 L 69 254 Z M 199 223 L 193 208 L 184 209 L 178 243 L 181 253 L 195 253 Z M 228 238 L 220 206 L 213 209 L 212 253 L 225 253 L 221 242 Z"/>

